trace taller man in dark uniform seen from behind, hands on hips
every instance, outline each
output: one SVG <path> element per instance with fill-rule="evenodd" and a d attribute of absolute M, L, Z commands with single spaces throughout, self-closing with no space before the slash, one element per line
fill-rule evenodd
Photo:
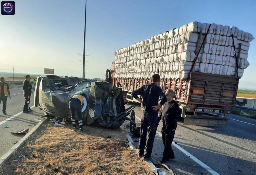
<path fill-rule="evenodd" d="M 132 96 L 138 100 L 143 107 L 139 155 L 142 156 L 144 153 L 144 160 L 151 159 L 153 143 L 158 126 L 158 110 L 166 102 L 166 96 L 162 89 L 158 87 L 160 76 L 158 74 L 154 74 L 151 77 L 151 82 L 152 83 L 143 85 L 141 88 L 132 92 Z M 142 95 L 143 101 L 138 97 L 138 95 Z M 158 104 L 159 98 L 161 99 L 160 104 Z"/>

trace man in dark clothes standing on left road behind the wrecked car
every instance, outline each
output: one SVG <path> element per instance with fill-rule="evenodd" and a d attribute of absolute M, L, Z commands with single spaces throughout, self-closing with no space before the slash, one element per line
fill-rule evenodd
<path fill-rule="evenodd" d="M 25 104 L 23 107 L 23 113 L 29 113 L 32 110 L 29 108 L 30 97 L 32 93 L 32 85 L 30 84 L 30 75 L 26 75 L 26 80 L 23 82 L 23 94 L 25 97 Z"/>

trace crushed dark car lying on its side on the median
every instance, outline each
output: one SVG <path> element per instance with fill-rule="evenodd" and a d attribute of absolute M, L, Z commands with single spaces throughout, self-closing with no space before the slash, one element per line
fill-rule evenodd
<path fill-rule="evenodd" d="M 39 81 L 40 80 L 40 81 Z M 71 119 L 69 100 L 76 94 L 86 94 L 87 107 L 83 123 L 118 128 L 133 106 L 125 109 L 122 90 L 109 82 L 56 75 L 39 76 L 36 84 L 39 108 L 56 117 Z M 76 116 L 77 119 L 77 116 Z"/>

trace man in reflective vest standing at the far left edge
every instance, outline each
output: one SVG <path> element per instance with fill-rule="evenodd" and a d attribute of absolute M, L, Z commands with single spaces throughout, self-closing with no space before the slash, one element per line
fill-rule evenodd
<path fill-rule="evenodd" d="M 11 99 L 9 86 L 5 83 L 4 77 L 0 78 L 0 104 L 3 101 L 3 114 L 6 115 L 7 96 Z"/>

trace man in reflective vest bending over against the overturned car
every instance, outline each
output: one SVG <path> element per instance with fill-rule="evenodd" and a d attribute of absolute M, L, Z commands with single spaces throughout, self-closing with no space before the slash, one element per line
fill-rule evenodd
<path fill-rule="evenodd" d="M 73 128 L 76 129 L 76 117 L 75 117 L 75 113 L 76 113 L 78 118 L 79 131 L 84 131 L 82 113 L 84 112 L 87 106 L 87 101 L 85 97 L 86 97 L 85 94 L 74 95 L 68 103 L 69 111 L 71 113 Z"/>

